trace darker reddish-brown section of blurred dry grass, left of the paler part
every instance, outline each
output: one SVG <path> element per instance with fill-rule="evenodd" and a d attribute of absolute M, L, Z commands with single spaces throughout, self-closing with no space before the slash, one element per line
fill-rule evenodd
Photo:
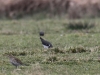
<path fill-rule="evenodd" d="M 61 13 L 69 6 L 68 0 L 0 0 L 0 13 L 13 17 L 33 12 L 48 11 L 49 13 Z"/>

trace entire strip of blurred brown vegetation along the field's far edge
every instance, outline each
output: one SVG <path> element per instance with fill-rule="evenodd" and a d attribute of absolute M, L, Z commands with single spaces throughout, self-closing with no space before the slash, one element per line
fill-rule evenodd
<path fill-rule="evenodd" d="M 100 0 L 0 0 L 0 17 L 21 18 L 42 14 L 68 18 L 100 16 Z"/>

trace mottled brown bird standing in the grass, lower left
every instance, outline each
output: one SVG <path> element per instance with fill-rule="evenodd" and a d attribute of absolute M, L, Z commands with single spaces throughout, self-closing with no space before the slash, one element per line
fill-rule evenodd
<path fill-rule="evenodd" d="M 7 54 L 7 57 L 9 58 L 10 63 L 12 65 L 14 65 L 16 68 L 18 68 L 18 66 L 20 66 L 20 65 L 23 65 L 23 63 L 21 62 L 21 60 L 18 59 L 18 58 L 16 58 L 16 57 L 14 57 L 12 54 Z"/>

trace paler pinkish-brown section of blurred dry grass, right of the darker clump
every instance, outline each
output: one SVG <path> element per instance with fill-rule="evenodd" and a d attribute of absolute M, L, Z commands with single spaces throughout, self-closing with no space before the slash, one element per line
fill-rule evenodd
<path fill-rule="evenodd" d="M 100 0 L 72 0 L 68 10 L 69 18 L 100 16 Z"/>

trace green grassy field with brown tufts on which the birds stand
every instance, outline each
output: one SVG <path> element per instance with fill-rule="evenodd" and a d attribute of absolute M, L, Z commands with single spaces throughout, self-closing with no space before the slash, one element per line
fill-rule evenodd
<path fill-rule="evenodd" d="M 70 23 L 92 23 L 92 27 L 74 29 Z M 39 39 L 53 44 L 44 49 Z M 24 18 L 0 20 L 0 75 L 99 75 L 100 18 Z M 6 54 L 11 53 L 27 66 L 17 70 Z"/>

